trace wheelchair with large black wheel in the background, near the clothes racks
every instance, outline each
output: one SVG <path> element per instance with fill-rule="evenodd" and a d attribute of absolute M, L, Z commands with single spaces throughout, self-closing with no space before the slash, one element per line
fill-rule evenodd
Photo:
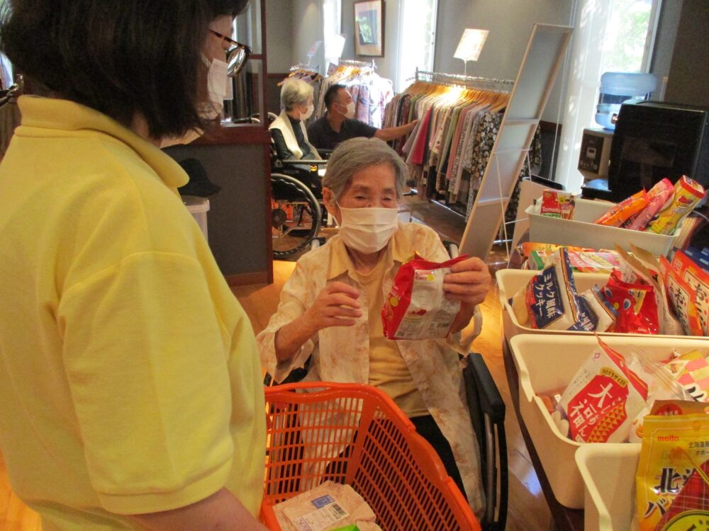
<path fill-rule="evenodd" d="M 269 120 L 276 115 L 269 113 Z M 327 225 L 322 176 L 332 152 L 318 150 L 323 160 L 284 160 L 271 144 L 271 226 L 273 257 L 291 258 L 306 251 Z"/>

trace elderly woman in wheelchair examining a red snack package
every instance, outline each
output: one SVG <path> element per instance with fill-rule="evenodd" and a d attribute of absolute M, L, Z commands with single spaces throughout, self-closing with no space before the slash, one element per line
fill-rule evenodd
<path fill-rule="evenodd" d="M 405 182 L 403 161 L 379 139 L 350 139 L 335 149 L 323 200 L 340 234 L 298 260 L 277 313 L 257 336 L 259 353 L 277 382 L 311 358 L 303 381 L 371 384 L 389 394 L 480 513 L 479 459 L 457 350 L 467 352 L 479 333 L 477 305 L 490 274 L 479 258 L 452 266 L 443 287 L 461 307 L 445 340 L 384 337 L 379 314 L 401 264 L 414 252 L 434 262 L 449 258 L 432 229 L 398 223 Z"/>

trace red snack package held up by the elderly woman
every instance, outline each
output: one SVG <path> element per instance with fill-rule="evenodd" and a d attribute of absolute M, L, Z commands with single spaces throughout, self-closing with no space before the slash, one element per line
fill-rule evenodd
<path fill-rule="evenodd" d="M 464 255 L 435 263 L 415 257 L 403 264 L 381 309 L 384 336 L 389 339 L 445 338 L 460 310 L 460 302 L 445 297 L 443 278 L 454 263 L 466 258 Z"/>

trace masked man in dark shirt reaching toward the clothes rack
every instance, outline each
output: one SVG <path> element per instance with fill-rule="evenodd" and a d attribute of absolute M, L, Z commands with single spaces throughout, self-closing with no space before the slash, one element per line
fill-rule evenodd
<path fill-rule="evenodd" d="M 308 139 L 318 149 L 335 149 L 340 142 L 355 137 L 376 137 L 388 142 L 407 135 L 418 122 L 377 129 L 355 120 L 352 95 L 343 85 L 333 85 L 325 92 L 325 108 L 325 116 L 308 125 Z"/>

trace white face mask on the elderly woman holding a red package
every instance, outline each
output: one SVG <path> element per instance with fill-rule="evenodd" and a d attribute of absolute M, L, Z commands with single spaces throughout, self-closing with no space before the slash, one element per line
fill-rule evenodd
<path fill-rule="evenodd" d="M 339 206 L 339 205 L 338 205 Z M 347 247 L 360 253 L 376 253 L 398 230 L 396 208 L 343 208 L 340 236 Z"/>

